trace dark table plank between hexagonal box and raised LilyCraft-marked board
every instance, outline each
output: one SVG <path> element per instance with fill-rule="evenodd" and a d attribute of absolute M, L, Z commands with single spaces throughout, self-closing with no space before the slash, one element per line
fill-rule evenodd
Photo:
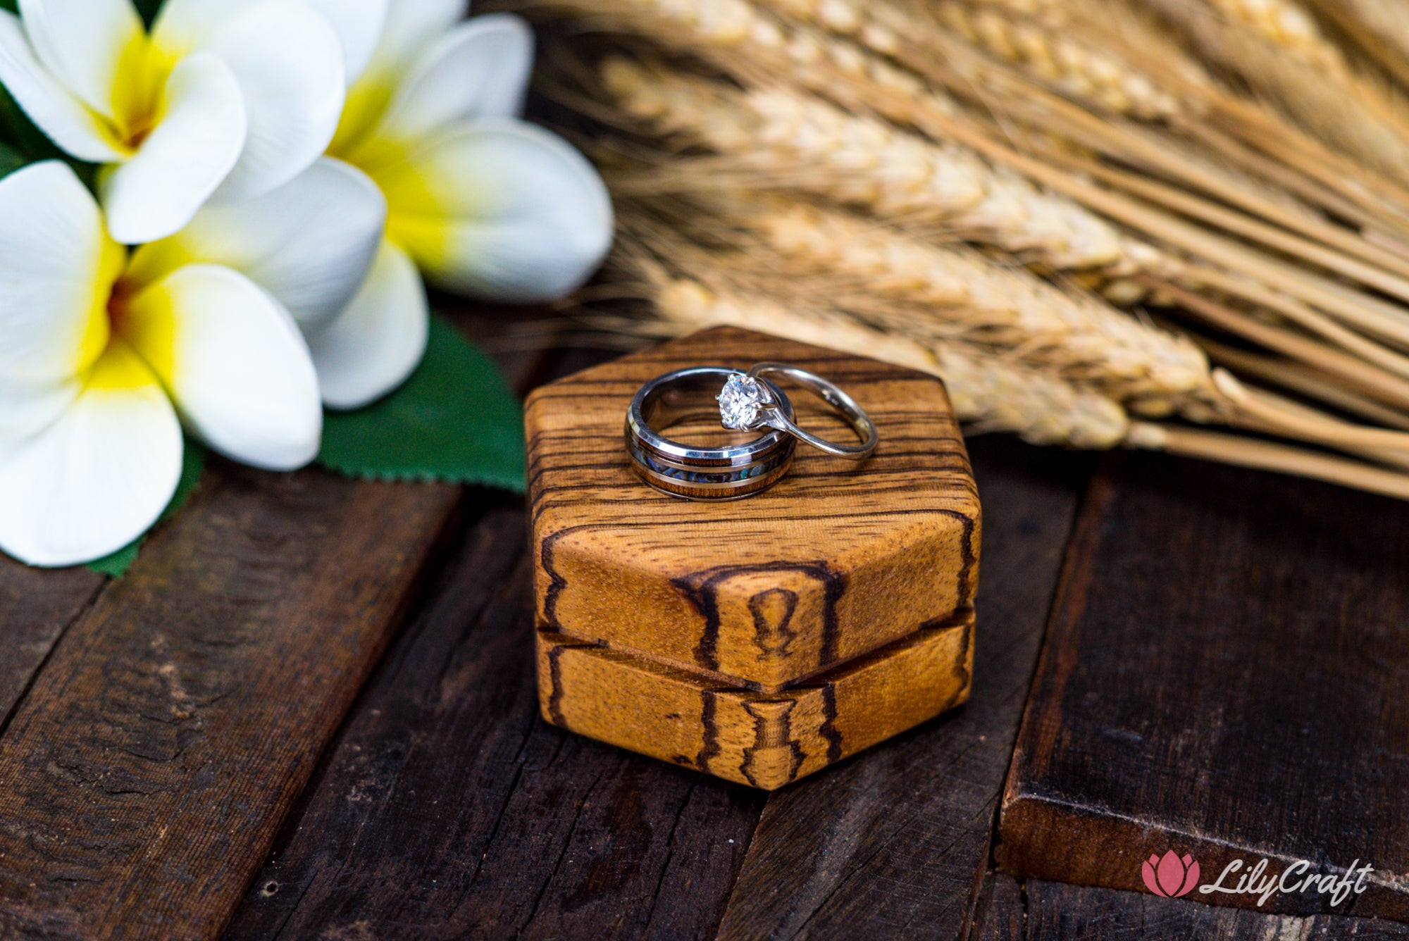
<path fill-rule="evenodd" d="M 969 444 L 983 501 L 974 697 L 958 713 L 774 794 L 724 938 L 955 938 L 988 866 L 993 813 L 1089 465 Z"/>

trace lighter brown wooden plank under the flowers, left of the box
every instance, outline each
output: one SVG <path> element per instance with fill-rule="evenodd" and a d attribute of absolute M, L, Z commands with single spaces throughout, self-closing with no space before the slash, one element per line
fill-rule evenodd
<path fill-rule="evenodd" d="M 0 934 L 216 934 L 457 504 L 216 462 L 0 738 Z"/>

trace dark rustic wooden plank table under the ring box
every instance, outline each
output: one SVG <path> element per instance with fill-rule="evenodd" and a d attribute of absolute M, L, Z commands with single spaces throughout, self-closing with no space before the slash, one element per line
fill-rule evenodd
<path fill-rule="evenodd" d="M 972 702 L 772 796 L 537 717 L 517 499 L 216 461 L 118 582 L 0 563 L 0 937 L 1409 938 L 1409 504 L 971 448 Z"/>

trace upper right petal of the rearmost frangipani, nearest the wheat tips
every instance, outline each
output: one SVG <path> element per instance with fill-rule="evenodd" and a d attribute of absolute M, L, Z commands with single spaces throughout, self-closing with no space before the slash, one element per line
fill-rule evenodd
<path fill-rule="evenodd" d="M 511 117 L 533 72 L 533 31 L 509 13 L 476 17 L 435 42 L 402 82 L 382 132 L 410 139 L 451 121 Z"/>

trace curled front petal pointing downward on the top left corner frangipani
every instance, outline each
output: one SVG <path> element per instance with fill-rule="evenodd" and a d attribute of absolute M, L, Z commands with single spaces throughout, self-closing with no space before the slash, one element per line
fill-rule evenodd
<path fill-rule="evenodd" d="M 103 179 L 108 231 L 127 245 L 154 242 L 189 223 L 240 159 L 240 86 L 214 55 L 186 56 L 166 80 L 166 113 L 132 159 Z"/>

